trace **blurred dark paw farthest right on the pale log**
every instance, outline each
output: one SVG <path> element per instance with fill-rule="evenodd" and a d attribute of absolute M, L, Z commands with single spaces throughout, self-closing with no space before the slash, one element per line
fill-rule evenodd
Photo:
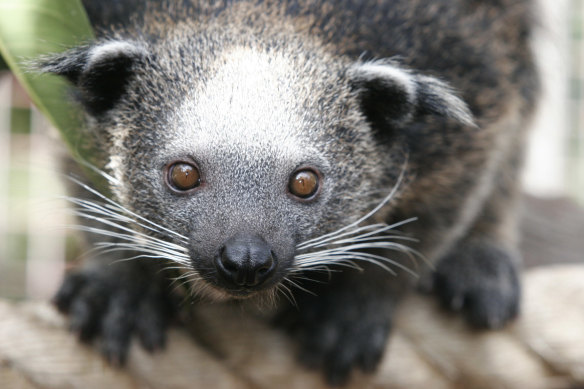
<path fill-rule="evenodd" d="M 434 274 L 442 304 L 476 328 L 499 328 L 517 316 L 520 284 L 514 254 L 491 241 L 464 242 Z"/>

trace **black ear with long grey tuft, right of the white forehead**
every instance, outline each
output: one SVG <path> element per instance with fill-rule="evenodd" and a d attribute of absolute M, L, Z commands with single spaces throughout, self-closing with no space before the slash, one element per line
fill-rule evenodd
<path fill-rule="evenodd" d="M 403 125 L 416 115 L 438 115 L 475 126 L 466 103 L 434 77 L 412 73 L 391 62 L 358 63 L 349 68 L 348 75 L 373 125 Z"/>

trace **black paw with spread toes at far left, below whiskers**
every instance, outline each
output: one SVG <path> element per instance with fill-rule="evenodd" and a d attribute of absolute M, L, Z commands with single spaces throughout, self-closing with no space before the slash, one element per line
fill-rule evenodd
<path fill-rule="evenodd" d="M 164 346 L 174 312 L 163 285 L 147 275 L 116 265 L 74 272 L 54 302 L 69 315 L 70 328 L 82 341 L 100 338 L 106 359 L 122 365 L 134 334 L 149 351 Z"/>

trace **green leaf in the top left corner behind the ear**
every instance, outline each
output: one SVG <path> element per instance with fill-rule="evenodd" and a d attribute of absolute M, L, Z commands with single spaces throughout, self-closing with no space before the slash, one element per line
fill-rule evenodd
<path fill-rule="evenodd" d="M 0 0 L 0 54 L 34 104 L 59 130 L 71 153 L 99 166 L 99 152 L 84 139 L 82 116 L 67 95 L 67 82 L 28 70 L 30 61 L 93 37 L 80 0 Z M 105 190 L 95 173 L 90 176 L 98 188 Z"/>

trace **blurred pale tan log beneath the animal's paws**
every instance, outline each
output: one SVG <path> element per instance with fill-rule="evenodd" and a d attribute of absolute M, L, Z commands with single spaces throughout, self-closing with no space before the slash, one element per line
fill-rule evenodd
<path fill-rule="evenodd" d="M 584 386 L 584 266 L 524 275 L 522 315 L 501 331 L 470 330 L 428 296 L 408 298 L 376 374 L 349 388 L 575 388 Z M 79 343 L 47 303 L 0 301 L 1 388 L 325 388 L 299 366 L 295 344 L 260 316 L 197 307 L 189 334 L 165 351 L 131 347 L 115 368 Z M 194 336 L 192 336 L 194 335 Z"/>

